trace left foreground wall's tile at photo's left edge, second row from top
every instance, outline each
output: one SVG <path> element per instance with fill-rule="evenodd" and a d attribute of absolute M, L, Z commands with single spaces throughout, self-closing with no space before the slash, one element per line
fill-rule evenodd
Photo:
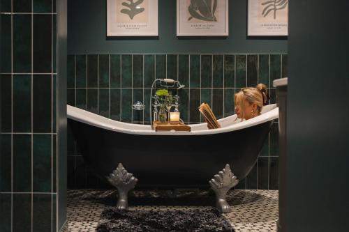
<path fill-rule="evenodd" d="M 1 2 L 2 3 L 2 2 Z M 1 72 L 12 72 L 11 15 L 0 15 L 1 19 Z"/>

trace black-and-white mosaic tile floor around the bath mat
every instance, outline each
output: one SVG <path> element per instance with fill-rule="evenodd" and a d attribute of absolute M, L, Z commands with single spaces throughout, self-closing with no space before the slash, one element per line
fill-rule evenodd
<path fill-rule="evenodd" d="M 228 194 L 232 212 L 224 216 L 235 231 L 276 231 L 278 191 L 234 190 Z M 130 210 L 186 210 L 214 205 L 214 196 L 208 191 L 138 190 L 129 196 Z M 68 190 L 68 231 L 95 231 L 101 212 L 116 201 L 114 190 Z"/>

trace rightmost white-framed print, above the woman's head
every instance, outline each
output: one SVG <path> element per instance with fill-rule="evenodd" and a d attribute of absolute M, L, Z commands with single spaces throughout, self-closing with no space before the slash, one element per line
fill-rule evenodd
<path fill-rule="evenodd" d="M 289 0 L 248 0 L 247 36 L 288 36 Z"/>

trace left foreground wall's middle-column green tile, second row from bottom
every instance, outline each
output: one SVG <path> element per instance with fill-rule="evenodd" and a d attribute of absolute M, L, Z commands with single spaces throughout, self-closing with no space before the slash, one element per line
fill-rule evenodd
<path fill-rule="evenodd" d="M 13 134 L 13 192 L 31 192 L 30 134 Z"/>

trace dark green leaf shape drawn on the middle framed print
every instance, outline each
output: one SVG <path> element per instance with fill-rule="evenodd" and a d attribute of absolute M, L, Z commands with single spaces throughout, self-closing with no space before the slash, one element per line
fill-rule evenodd
<path fill-rule="evenodd" d="M 216 8 L 217 0 L 190 0 L 188 21 L 195 18 L 196 20 L 217 22 Z"/>

